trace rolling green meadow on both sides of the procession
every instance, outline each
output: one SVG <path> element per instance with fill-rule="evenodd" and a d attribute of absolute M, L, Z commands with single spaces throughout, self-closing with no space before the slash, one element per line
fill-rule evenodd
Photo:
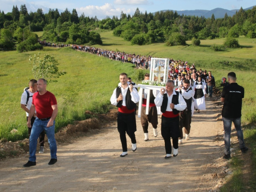
<path fill-rule="evenodd" d="M 201 40 L 201 45 L 166 47 L 164 44 L 152 44 L 147 46 L 132 46 L 131 42 L 120 37 L 113 36 L 112 31 L 98 30 L 103 45 L 95 47 L 152 55 L 153 57 L 174 58 L 187 61 L 189 65 L 195 63 L 196 68 L 211 70 L 216 78 L 219 89 L 221 78 L 227 77 L 227 73 L 234 71 L 238 77 L 238 83 L 245 88 L 243 102 L 242 121 L 244 124 L 254 123 L 256 116 L 256 102 L 254 93 L 255 63 L 256 63 L 256 39 L 241 36 L 238 38 L 240 49 L 226 49 L 214 52 L 211 45 L 222 45 L 223 39 Z M 41 32 L 37 32 L 40 36 Z M 18 53 L 16 51 L 0 52 L 0 138 L 19 140 L 27 137 L 26 115 L 20 108 L 20 96 L 23 89 L 28 86 L 30 79 L 34 78 L 32 66 L 29 64 L 29 56 L 38 51 Z M 110 97 L 119 82 L 119 74 L 126 72 L 136 83 L 140 82 L 141 70 L 135 70 L 131 63 L 121 63 L 107 58 L 72 50 L 71 48 L 44 47 L 40 51 L 41 57 L 49 53 L 58 60 L 59 71 L 67 72 L 60 76 L 58 82 L 49 83 L 48 91 L 55 94 L 58 102 L 58 116 L 56 119 L 56 131 L 75 120 L 89 118 L 84 114 L 86 110 L 95 113 L 106 113 L 113 108 Z M 143 73 L 146 72 L 145 70 Z M 11 134 L 10 131 L 18 132 Z"/>

